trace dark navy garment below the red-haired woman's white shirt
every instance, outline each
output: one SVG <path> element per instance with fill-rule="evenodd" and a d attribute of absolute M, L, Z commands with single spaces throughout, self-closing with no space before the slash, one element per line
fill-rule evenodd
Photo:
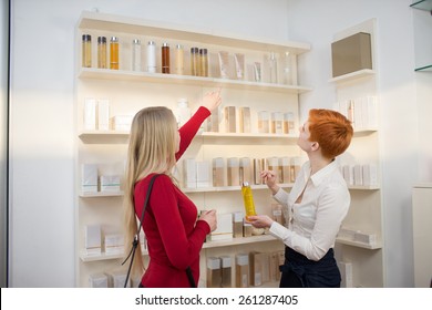
<path fill-rule="evenodd" d="M 285 264 L 280 266 L 280 288 L 340 288 L 340 271 L 333 249 L 318 261 L 285 247 Z"/>

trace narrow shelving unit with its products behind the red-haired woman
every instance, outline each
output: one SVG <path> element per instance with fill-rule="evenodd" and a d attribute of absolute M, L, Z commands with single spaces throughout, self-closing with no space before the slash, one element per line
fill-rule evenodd
<path fill-rule="evenodd" d="M 342 282 L 349 287 L 384 287 L 379 74 L 374 65 L 377 20 L 367 20 L 336 33 L 333 42 L 358 33 L 370 34 L 369 64 L 372 69 L 329 80 L 335 85 L 337 97 L 333 108 L 347 116 L 354 130 L 349 148 L 339 158 L 349 184 L 351 204 L 339 230 L 335 252 L 338 264 L 350 266 L 348 269 L 343 267 L 346 281 Z M 366 55 L 368 49 L 359 48 L 353 53 Z"/>

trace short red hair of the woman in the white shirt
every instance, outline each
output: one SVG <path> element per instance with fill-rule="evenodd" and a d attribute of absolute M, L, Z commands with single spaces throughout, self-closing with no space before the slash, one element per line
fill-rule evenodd
<path fill-rule="evenodd" d="M 353 130 L 351 122 L 339 112 L 325 108 L 309 111 L 309 132 L 311 142 L 318 142 L 326 158 L 342 154 L 351 143 Z"/>

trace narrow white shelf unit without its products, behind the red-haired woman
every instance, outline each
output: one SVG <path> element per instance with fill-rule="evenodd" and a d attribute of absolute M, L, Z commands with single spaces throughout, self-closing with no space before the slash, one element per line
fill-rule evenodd
<path fill-rule="evenodd" d="M 371 34 L 372 70 L 364 69 L 341 76 L 330 79 L 335 84 L 337 101 L 356 100 L 362 96 L 378 96 L 378 74 L 376 68 L 376 20 L 371 19 L 358 25 L 341 31 L 335 35 L 335 41 L 358 32 Z M 378 102 L 378 105 L 380 103 Z M 377 107 L 377 120 L 379 120 Z M 351 238 L 338 237 L 336 256 L 338 261 L 352 264 L 353 287 L 384 287 L 384 244 L 382 230 L 382 190 L 381 157 L 380 157 L 379 123 L 377 127 L 358 131 L 354 127 L 354 137 L 341 162 L 356 164 L 374 164 L 378 183 L 372 186 L 349 186 L 351 205 L 343 228 L 374 235 L 376 242 L 359 242 Z M 353 190 L 366 189 L 366 190 Z"/>

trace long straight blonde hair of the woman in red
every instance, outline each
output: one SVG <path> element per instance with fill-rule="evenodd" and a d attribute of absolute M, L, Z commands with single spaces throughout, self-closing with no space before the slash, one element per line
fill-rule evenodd
<path fill-rule="evenodd" d="M 138 218 L 135 215 L 135 184 L 152 173 L 166 174 L 172 177 L 171 170 L 176 163 L 177 135 L 175 116 L 165 106 L 145 107 L 137 112 L 132 121 L 124 188 L 126 255 L 131 250 L 138 218 L 141 218 L 141 215 Z M 138 245 L 132 266 L 132 275 L 142 275 L 144 270 Z"/>

